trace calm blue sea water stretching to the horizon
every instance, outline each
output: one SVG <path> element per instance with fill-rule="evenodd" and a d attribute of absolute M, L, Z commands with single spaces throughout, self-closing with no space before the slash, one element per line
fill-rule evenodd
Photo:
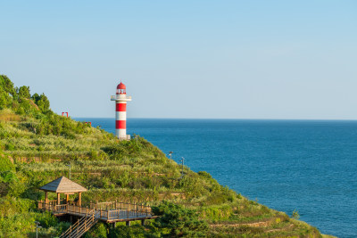
<path fill-rule="evenodd" d="M 114 119 L 91 121 L 114 132 Z M 128 119 L 172 159 L 221 185 L 316 226 L 357 237 L 357 121 Z"/>

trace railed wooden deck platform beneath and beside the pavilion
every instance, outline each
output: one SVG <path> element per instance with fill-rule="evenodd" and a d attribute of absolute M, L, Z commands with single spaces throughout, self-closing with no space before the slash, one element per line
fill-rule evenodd
<path fill-rule="evenodd" d="M 38 201 L 38 209 L 50 211 L 54 216 L 73 215 L 78 217 L 88 217 L 89 214 L 94 214 L 95 219 L 102 220 L 107 223 L 116 223 L 124 221 L 153 219 L 151 207 L 143 204 L 128 203 L 128 202 L 102 202 L 90 203 L 88 206 L 79 207 L 76 204 L 61 204 L 57 205 L 54 201 Z"/>

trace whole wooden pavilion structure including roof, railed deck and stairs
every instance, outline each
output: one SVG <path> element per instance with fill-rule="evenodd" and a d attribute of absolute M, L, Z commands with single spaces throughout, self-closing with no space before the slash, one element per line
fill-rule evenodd
<path fill-rule="evenodd" d="M 117 222 L 126 222 L 130 226 L 130 221 L 141 220 L 145 224 L 146 219 L 154 219 L 150 206 L 137 202 L 129 203 L 127 201 L 105 201 L 90 203 L 89 207 L 82 207 L 81 194 L 87 189 L 77 183 L 74 183 L 65 176 L 61 176 L 54 181 L 39 188 L 45 191 L 45 202 L 38 201 L 38 209 L 52 212 L 54 216 L 69 215 L 79 217 L 61 237 L 80 237 L 85 234 L 99 220 L 115 226 Z M 48 201 L 48 192 L 57 193 L 57 200 Z M 66 194 L 65 204 L 61 204 L 61 193 Z M 69 202 L 69 196 L 79 193 L 77 204 Z"/>

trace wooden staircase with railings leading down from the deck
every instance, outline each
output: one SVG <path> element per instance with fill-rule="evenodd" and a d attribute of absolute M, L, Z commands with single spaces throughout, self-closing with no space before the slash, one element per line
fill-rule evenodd
<path fill-rule="evenodd" d="M 92 209 L 84 217 L 81 217 L 73 226 L 60 235 L 60 238 L 79 238 L 85 234 L 98 221 L 98 212 Z"/>

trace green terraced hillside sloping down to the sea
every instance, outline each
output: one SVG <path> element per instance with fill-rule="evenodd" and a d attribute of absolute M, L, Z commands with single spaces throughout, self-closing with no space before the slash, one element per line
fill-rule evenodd
<path fill-rule="evenodd" d="M 5 76 L 0 76 L 0 148 L 0 237 L 34 237 L 35 220 L 43 226 L 40 237 L 54 237 L 70 226 L 36 208 L 36 201 L 44 200 L 37 188 L 68 176 L 70 163 L 71 179 L 88 189 L 83 202 L 158 206 L 165 200 L 168 208 L 193 212 L 203 222 L 199 233 L 178 236 L 321 236 L 316 228 L 219 185 L 207 172 L 184 168 L 181 177 L 181 167 L 140 136 L 119 141 L 100 128 L 55 114 L 45 94 L 31 95 L 28 86 L 14 87 Z M 116 228 L 98 223 L 86 236 L 170 236 L 170 228 L 160 222 Z"/>

